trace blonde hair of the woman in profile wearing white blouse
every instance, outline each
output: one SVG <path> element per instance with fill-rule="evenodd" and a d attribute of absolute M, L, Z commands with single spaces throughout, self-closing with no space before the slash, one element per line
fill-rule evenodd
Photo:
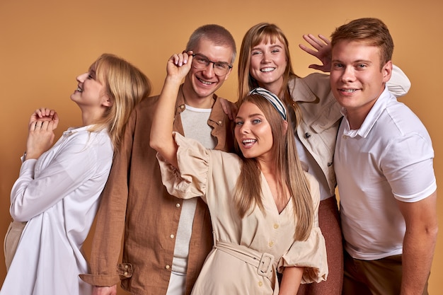
<path fill-rule="evenodd" d="M 114 151 L 118 151 L 123 130 L 135 105 L 151 93 L 151 83 L 137 67 L 114 54 L 102 54 L 93 65 L 96 79 L 113 104 L 90 131 L 108 129 Z M 92 67 L 91 66 L 91 67 Z"/>

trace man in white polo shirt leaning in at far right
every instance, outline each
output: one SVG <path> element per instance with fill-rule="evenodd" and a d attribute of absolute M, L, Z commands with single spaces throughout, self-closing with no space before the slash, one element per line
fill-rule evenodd
<path fill-rule="evenodd" d="M 331 44 L 330 84 L 344 115 L 334 156 L 343 294 L 427 294 L 437 241 L 430 136 L 385 87 L 393 41 L 383 22 L 351 21 Z"/>

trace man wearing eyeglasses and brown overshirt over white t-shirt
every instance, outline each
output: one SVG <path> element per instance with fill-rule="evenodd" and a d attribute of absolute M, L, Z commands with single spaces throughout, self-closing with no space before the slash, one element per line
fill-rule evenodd
<path fill-rule="evenodd" d="M 180 86 L 174 131 L 209 149 L 232 151 L 231 121 L 214 93 L 231 74 L 234 38 L 219 25 L 203 25 L 186 51 L 193 52 L 192 69 Z M 81 274 L 95 286 L 94 295 L 115 295 L 120 280 L 131 294 L 190 294 L 212 249 L 206 204 L 172 197 L 161 183 L 156 151 L 149 146 L 157 100 L 145 98 L 132 113 L 103 190 L 91 272 Z"/>

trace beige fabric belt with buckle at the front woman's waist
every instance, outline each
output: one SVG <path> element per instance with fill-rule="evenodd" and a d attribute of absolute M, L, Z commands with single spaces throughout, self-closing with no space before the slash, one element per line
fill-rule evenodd
<path fill-rule="evenodd" d="M 214 243 L 215 248 L 233 255 L 241 261 L 244 261 L 257 268 L 257 274 L 267 277 L 271 282 L 275 282 L 274 255 L 269 253 L 260 253 L 256 250 L 243 245 L 233 243 L 219 242 Z"/>

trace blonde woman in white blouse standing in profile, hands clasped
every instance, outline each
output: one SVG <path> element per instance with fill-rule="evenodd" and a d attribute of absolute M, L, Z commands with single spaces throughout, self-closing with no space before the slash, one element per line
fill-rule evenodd
<path fill-rule="evenodd" d="M 127 118 L 134 105 L 149 96 L 151 86 L 139 69 L 112 54 L 98 57 L 76 81 L 71 100 L 81 110 L 80 127 L 67 129 L 52 146 L 57 112 L 40 108 L 30 117 L 10 209 L 14 223 L 25 226 L 15 255 L 13 240 L 18 236 L 11 232 L 6 237 L 6 261 L 11 265 L 1 295 L 92 292 L 92 286 L 79 279 L 87 272 L 82 245 Z"/>

